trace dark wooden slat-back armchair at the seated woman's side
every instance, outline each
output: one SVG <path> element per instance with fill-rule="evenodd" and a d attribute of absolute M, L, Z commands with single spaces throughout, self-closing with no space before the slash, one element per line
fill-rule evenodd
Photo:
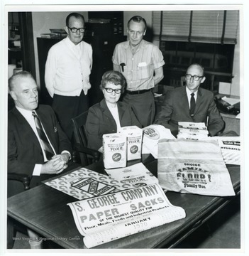
<path fill-rule="evenodd" d="M 79 114 L 77 117 L 72 118 L 74 129 L 74 145 L 72 159 L 74 163 L 79 162 L 82 166 L 88 166 L 94 162 L 99 161 L 101 153 L 95 149 L 87 147 L 87 133 L 85 124 L 87 122 L 88 111 Z"/>

